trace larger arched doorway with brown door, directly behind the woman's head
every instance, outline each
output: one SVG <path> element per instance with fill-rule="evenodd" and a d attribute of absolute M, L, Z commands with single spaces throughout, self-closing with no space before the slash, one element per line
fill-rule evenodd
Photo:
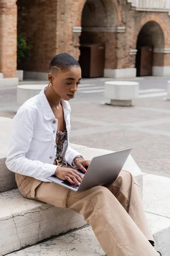
<path fill-rule="evenodd" d="M 80 36 L 82 75 L 103 76 L 104 68 L 115 68 L 116 32 L 117 11 L 113 1 L 87 0 L 82 11 Z"/>

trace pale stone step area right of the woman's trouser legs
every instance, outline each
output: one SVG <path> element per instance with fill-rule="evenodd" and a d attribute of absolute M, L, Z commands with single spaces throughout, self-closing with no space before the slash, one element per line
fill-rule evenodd
<path fill-rule="evenodd" d="M 143 204 L 157 250 L 170 256 L 170 178 L 144 175 Z"/>

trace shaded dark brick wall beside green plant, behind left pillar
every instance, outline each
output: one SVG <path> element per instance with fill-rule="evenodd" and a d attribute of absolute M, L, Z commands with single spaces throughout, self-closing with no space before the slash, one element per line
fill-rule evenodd
<path fill-rule="evenodd" d="M 32 45 L 29 63 L 23 70 L 48 72 L 57 53 L 57 0 L 17 0 L 18 33 Z"/>

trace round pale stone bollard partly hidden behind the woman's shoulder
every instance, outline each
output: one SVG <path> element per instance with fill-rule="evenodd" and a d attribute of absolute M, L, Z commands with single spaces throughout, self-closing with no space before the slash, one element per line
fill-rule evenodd
<path fill-rule="evenodd" d="M 48 84 L 23 84 L 17 86 L 17 104 L 23 105 L 28 99 L 36 96 Z"/>

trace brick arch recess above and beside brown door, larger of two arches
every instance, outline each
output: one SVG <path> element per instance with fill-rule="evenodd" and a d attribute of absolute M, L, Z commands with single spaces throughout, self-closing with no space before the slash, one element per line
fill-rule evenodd
<path fill-rule="evenodd" d="M 86 0 L 82 9 L 82 44 L 105 44 L 105 68 L 116 62 L 116 35 L 119 15 L 114 0 Z"/>

